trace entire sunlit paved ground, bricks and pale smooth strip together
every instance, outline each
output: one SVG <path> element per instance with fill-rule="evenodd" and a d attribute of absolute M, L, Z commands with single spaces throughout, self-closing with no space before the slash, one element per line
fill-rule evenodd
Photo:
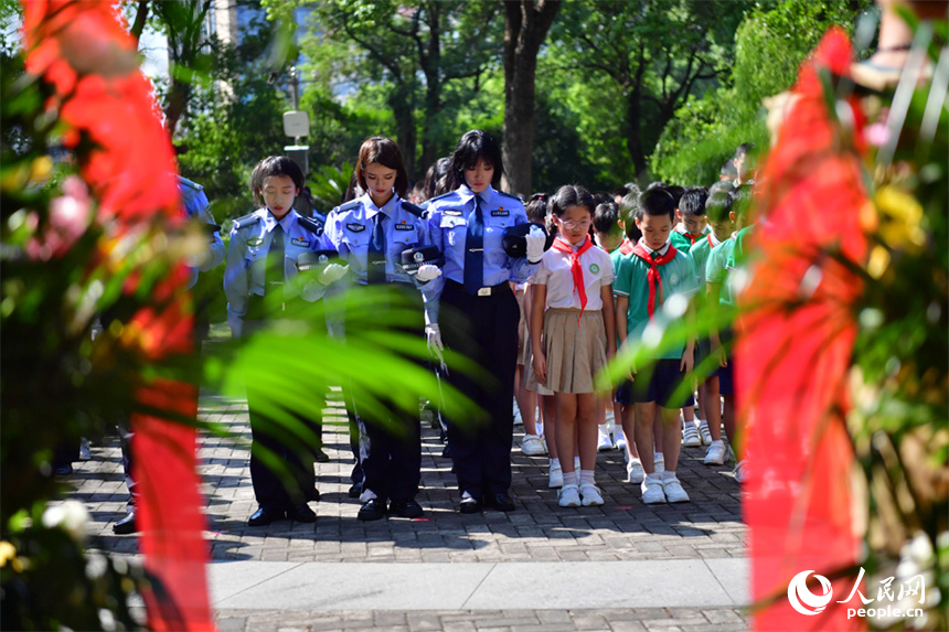
<path fill-rule="evenodd" d="M 513 456 L 516 511 L 455 511 L 451 463 L 423 424 L 420 519 L 356 519 L 339 393 L 331 394 L 317 464 L 316 524 L 248 527 L 255 508 L 246 443 L 201 436 L 213 564 L 212 603 L 222 630 L 663 630 L 746 629 L 748 567 L 738 484 L 727 467 L 683 448 L 679 475 L 690 503 L 643 505 L 625 482 L 622 454 L 600 452 L 606 504 L 562 508 L 547 489 L 546 457 Z M 204 395 L 200 415 L 249 439 L 246 403 Z M 520 430 L 520 429 L 519 429 Z M 116 438 L 92 449 L 71 480 L 93 516 L 93 546 L 136 554 L 116 536 L 126 490 Z"/>

